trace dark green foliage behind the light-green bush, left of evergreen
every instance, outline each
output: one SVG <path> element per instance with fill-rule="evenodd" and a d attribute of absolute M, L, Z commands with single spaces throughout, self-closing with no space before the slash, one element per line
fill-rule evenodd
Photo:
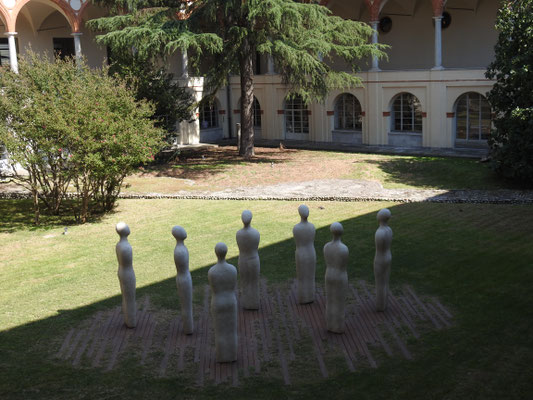
<path fill-rule="evenodd" d="M 113 53 L 112 60 L 110 74 L 124 79 L 135 91 L 137 100 L 145 99 L 155 105 L 156 126 L 171 133 L 178 122 L 192 118 L 192 95 L 165 68 L 132 54 L 131 50 Z"/>

